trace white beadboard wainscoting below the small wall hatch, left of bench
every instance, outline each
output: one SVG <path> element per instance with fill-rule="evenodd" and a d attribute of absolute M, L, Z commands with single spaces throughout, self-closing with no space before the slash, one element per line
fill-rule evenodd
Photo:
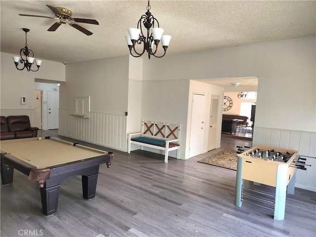
<path fill-rule="evenodd" d="M 89 112 L 89 118 L 59 109 L 58 134 L 126 152 L 126 116 Z"/>

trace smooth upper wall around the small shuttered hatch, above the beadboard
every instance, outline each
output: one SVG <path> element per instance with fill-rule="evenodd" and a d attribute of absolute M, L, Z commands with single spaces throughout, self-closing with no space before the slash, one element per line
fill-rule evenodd
<path fill-rule="evenodd" d="M 90 96 L 90 111 L 114 115 L 127 112 L 128 56 L 66 65 L 60 108 L 74 109 L 75 96 Z"/>

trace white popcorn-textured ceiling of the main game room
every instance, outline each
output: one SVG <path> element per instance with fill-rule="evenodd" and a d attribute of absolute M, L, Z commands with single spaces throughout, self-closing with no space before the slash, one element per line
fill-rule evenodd
<path fill-rule="evenodd" d="M 160 27 L 172 36 L 167 54 L 316 35 L 316 1 L 150 3 Z M 93 32 L 91 36 L 68 24 L 48 32 L 57 20 L 18 15 L 54 17 L 46 4 L 69 8 L 73 17 L 96 19 L 100 25 L 79 24 Z M 0 49 L 18 55 L 25 43 L 22 28 L 29 28 L 28 46 L 36 58 L 71 63 L 127 55 L 124 35 L 127 28 L 137 27 L 147 4 L 147 0 L 1 0 Z"/>

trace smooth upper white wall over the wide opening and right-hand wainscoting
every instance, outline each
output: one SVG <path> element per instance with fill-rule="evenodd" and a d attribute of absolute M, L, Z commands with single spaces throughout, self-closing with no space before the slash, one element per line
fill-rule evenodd
<path fill-rule="evenodd" d="M 315 42 L 306 37 L 144 60 L 143 79 L 259 77 L 255 126 L 315 131 Z"/>

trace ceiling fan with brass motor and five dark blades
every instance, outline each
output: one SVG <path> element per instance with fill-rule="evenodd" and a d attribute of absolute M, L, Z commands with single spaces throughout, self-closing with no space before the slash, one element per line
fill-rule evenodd
<path fill-rule="evenodd" d="M 72 27 L 76 28 L 77 30 L 81 31 L 83 34 L 86 34 L 87 36 L 91 36 L 93 33 L 84 29 L 83 27 L 79 26 L 77 23 L 88 23 L 88 24 L 94 24 L 99 25 L 99 22 L 92 19 L 83 19 L 83 18 L 72 18 L 73 12 L 65 7 L 53 7 L 50 5 L 46 5 L 49 7 L 56 15 L 56 17 L 50 17 L 50 16 L 37 16 L 37 15 L 26 15 L 26 14 L 19 14 L 20 16 L 34 16 L 34 17 L 44 17 L 44 18 L 50 18 L 58 20 L 59 22 L 54 23 L 47 31 L 56 31 L 57 28 L 61 24 L 69 23 Z"/>

